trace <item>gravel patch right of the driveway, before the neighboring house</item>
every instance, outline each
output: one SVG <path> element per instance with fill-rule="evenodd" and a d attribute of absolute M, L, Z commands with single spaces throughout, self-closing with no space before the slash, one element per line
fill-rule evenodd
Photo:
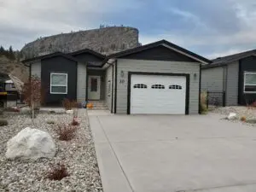
<path fill-rule="evenodd" d="M 253 125 L 256 126 L 256 108 L 247 108 L 244 106 L 231 106 L 231 107 L 224 107 L 224 108 L 214 108 L 211 111 L 212 113 L 221 113 L 226 115 L 226 117 L 230 113 L 236 113 L 237 119 L 230 119 L 230 121 L 233 122 L 239 122 L 241 124 L 246 125 Z M 241 117 L 245 117 L 248 122 L 253 121 L 255 123 L 247 123 L 247 122 L 241 122 Z"/>

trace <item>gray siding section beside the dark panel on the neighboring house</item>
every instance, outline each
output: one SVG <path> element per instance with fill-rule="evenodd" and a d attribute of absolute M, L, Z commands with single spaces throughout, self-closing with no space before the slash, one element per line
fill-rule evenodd
<path fill-rule="evenodd" d="M 227 70 L 226 105 L 237 105 L 238 102 L 238 81 L 239 61 L 230 63 Z"/>

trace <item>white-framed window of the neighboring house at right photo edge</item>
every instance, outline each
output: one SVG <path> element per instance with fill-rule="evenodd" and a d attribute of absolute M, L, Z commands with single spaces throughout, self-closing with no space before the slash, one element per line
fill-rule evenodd
<path fill-rule="evenodd" d="M 244 93 L 256 93 L 256 73 L 244 73 Z"/>

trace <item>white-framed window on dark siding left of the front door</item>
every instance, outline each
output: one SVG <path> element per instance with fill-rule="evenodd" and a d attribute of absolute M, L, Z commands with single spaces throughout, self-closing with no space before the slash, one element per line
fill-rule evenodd
<path fill-rule="evenodd" d="M 67 73 L 50 73 L 50 94 L 67 94 Z"/>

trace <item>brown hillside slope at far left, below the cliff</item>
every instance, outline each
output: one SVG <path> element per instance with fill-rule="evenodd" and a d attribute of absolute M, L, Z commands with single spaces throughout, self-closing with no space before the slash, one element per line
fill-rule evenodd
<path fill-rule="evenodd" d="M 28 67 L 25 67 L 19 61 L 11 61 L 5 56 L 0 56 L 0 72 L 10 73 L 19 78 L 22 82 L 26 82 L 29 76 Z"/>

